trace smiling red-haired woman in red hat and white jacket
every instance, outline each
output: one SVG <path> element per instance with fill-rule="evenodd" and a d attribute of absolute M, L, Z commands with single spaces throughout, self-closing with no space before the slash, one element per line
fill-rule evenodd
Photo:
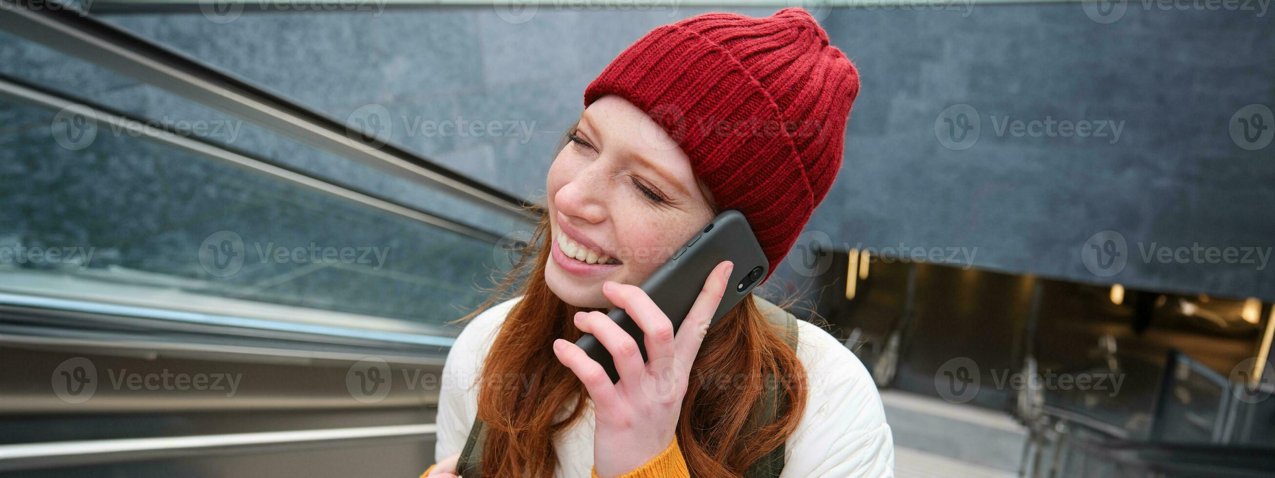
<path fill-rule="evenodd" d="M 826 331 L 802 321 L 790 347 L 768 320 L 774 306 L 751 294 L 710 329 L 729 261 L 680 330 L 634 286 L 727 209 L 775 270 L 836 177 L 858 89 L 797 8 L 692 17 L 616 57 L 550 167 L 516 297 L 484 305 L 448 354 L 446 459 L 426 475 L 463 474 L 467 442 L 483 477 L 892 475 L 876 387 Z M 641 326 L 646 362 L 599 312 L 612 306 Z M 618 382 L 574 344 L 585 333 L 612 353 Z M 782 377 L 780 405 L 768 376 Z M 771 419 L 750 418 L 766 407 Z"/>

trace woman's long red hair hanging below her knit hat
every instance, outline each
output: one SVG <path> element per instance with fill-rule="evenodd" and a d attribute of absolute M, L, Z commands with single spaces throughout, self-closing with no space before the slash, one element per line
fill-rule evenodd
<path fill-rule="evenodd" d="M 558 149 L 564 143 L 560 143 Z M 529 246 L 492 296 L 459 321 L 513 296 L 523 298 L 505 317 L 483 361 L 478 418 L 487 423 L 483 475 L 552 477 L 552 437 L 580 418 L 586 391 L 553 356 L 551 344 L 583 335 L 564 302 L 544 282 L 550 255 L 548 214 L 541 214 Z M 806 371 L 752 294 L 709 329 L 695 357 L 677 423 L 677 442 L 692 477 L 741 477 L 796 431 L 806 407 Z M 746 430 L 764 395 L 765 377 L 779 377 L 788 405 L 766 427 Z M 558 421 L 558 410 L 572 412 Z"/>

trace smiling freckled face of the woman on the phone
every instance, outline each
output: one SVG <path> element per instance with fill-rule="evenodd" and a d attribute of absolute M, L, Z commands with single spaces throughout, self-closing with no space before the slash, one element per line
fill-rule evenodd
<path fill-rule="evenodd" d="M 589 105 L 547 181 L 552 251 L 544 282 L 578 307 L 611 307 L 602 283 L 640 284 L 713 219 L 691 161 L 617 96 Z"/>

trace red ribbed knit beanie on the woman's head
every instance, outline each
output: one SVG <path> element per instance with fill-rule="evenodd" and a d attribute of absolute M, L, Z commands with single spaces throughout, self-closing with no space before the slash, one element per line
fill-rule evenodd
<path fill-rule="evenodd" d="M 748 219 L 774 273 L 833 186 L 858 93 L 850 60 L 787 8 L 655 28 L 585 88 L 584 106 L 617 94 L 646 111 L 718 205 Z"/>

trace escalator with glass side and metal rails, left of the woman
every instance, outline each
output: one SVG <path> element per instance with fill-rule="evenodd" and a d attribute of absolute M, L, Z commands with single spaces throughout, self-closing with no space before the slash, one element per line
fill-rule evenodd
<path fill-rule="evenodd" d="M 367 122 L 3 1 L 0 473 L 433 463 L 454 320 L 538 212 Z"/>

